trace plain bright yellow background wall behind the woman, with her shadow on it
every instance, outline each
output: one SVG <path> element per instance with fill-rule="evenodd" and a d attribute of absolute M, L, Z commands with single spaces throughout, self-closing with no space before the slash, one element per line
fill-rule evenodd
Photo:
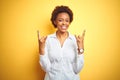
<path fill-rule="evenodd" d="M 86 29 L 81 80 L 120 80 L 120 0 L 0 0 L 0 80 L 43 80 L 37 30 L 55 31 L 56 5 L 73 10 L 72 34 Z"/>

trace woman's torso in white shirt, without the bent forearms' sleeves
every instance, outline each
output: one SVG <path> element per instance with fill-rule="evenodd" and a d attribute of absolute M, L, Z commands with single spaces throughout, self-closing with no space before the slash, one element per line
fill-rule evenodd
<path fill-rule="evenodd" d="M 47 37 L 47 53 L 51 63 L 51 71 L 46 73 L 45 80 L 79 80 L 73 66 L 77 57 L 77 44 L 73 35 L 64 41 L 63 46 L 56 33 Z"/>

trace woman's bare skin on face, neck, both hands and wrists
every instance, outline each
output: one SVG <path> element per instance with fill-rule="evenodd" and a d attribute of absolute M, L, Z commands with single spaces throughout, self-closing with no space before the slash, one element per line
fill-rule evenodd
<path fill-rule="evenodd" d="M 61 44 L 61 47 L 64 44 L 64 41 L 68 37 L 68 28 L 70 25 L 70 17 L 67 13 L 59 13 L 56 20 L 54 21 L 55 25 L 57 26 L 56 36 Z M 84 49 L 84 37 L 85 37 L 85 30 L 83 31 L 82 35 L 76 36 L 78 51 L 79 49 Z M 45 41 L 47 39 L 47 36 L 40 36 L 40 33 L 38 31 L 38 42 L 39 42 L 39 53 L 40 55 L 44 55 L 45 51 Z M 81 54 L 80 52 L 78 54 Z"/>

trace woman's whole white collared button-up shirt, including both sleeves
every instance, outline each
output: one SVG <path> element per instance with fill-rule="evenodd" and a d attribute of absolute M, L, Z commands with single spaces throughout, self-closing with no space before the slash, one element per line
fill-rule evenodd
<path fill-rule="evenodd" d="M 69 33 L 63 46 L 56 33 L 48 35 L 45 44 L 45 54 L 40 55 L 40 65 L 46 72 L 44 80 L 80 80 L 84 59 L 78 54 L 75 36 Z"/>

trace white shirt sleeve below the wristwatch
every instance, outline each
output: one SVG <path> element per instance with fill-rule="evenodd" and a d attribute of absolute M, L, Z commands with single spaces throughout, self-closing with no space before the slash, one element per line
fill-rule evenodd
<path fill-rule="evenodd" d="M 84 65 L 84 55 L 77 53 L 75 61 L 73 63 L 73 70 L 75 74 L 78 74 L 82 70 L 83 65 Z"/>

